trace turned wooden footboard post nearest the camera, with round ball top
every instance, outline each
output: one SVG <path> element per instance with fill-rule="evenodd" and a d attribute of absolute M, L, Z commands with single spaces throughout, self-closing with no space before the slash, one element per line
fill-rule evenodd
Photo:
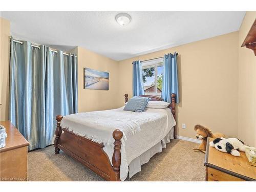
<path fill-rule="evenodd" d="M 114 178 L 112 178 L 112 181 L 120 181 L 120 165 L 121 165 L 121 139 L 123 137 L 123 132 L 120 130 L 115 130 L 113 132 L 113 137 L 115 139 L 114 142 L 114 154 L 112 156 L 112 164 L 113 164 L 113 170 L 115 172 Z"/>

